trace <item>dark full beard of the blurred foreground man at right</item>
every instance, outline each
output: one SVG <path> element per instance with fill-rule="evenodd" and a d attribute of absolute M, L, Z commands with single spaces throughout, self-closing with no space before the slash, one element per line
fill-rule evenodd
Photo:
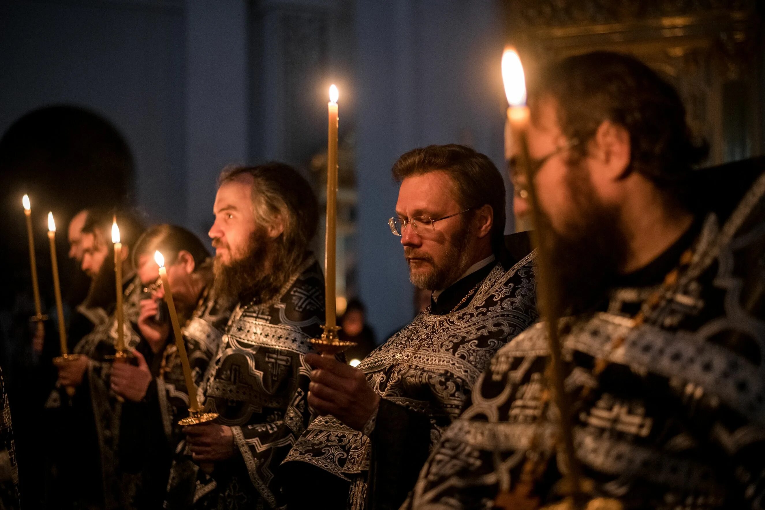
<path fill-rule="evenodd" d="M 607 297 L 627 258 L 627 239 L 614 207 L 605 206 L 594 193 L 583 168 L 567 171 L 568 188 L 578 215 L 564 232 L 557 232 L 542 213 L 542 232 L 547 236 L 555 266 L 555 296 L 559 310 L 575 315 L 594 310 Z"/>

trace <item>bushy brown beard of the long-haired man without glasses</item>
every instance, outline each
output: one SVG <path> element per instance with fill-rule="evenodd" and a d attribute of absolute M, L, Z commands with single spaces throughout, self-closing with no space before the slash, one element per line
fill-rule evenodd
<path fill-rule="evenodd" d="M 266 268 L 269 256 L 272 262 Z M 265 232 L 258 229 L 250 235 L 242 257 L 224 263 L 216 255 L 213 292 L 229 303 L 265 303 L 278 294 L 303 259 L 304 256 L 289 253 L 282 238 L 270 241 Z"/>

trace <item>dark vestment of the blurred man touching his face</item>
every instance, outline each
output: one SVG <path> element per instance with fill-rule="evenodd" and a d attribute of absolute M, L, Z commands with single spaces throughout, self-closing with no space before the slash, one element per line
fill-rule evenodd
<path fill-rule="evenodd" d="M 197 386 L 218 352 L 230 312 L 208 286 L 181 328 Z M 190 401 L 173 333 L 156 354 L 145 340 L 136 349 L 145 357 L 153 378 L 142 401 L 122 404 L 119 459 L 125 506 L 162 508 L 164 501 L 164 508 L 190 508 L 197 465 L 184 455 L 177 423 L 189 415 Z"/>

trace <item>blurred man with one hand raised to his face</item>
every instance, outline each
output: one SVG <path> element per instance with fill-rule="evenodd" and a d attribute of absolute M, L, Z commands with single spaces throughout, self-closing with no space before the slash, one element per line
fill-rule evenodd
<path fill-rule="evenodd" d="M 155 251 L 166 261 L 196 385 L 218 351 L 230 312 L 212 292 L 212 260 L 197 236 L 175 225 L 152 226 L 144 232 L 133 250 L 143 286 L 138 317 L 142 339 L 134 351 L 135 364 L 113 365 L 111 377 L 112 391 L 125 398 L 119 460 L 129 508 L 161 508 L 173 453 L 184 450 L 176 449 L 181 440 L 177 422 L 188 416 L 189 407 Z M 189 508 L 197 475 L 190 456 L 177 456 L 174 474 L 165 508 Z"/>

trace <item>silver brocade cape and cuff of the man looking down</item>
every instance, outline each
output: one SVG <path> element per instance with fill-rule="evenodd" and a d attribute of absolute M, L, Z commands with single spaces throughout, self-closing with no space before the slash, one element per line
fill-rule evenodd
<path fill-rule="evenodd" d="M 536 320 L 533 259 L 509 270 L 497 264 L 467 307 L 440 316 L 426 310 L 359 365 L 382 398 L 430 417 L 431 444 L 460 413 L 493 354 Z M 363 508 L 372 450 L 369 436 L 334 417 L 317 417 L 285 462 L 350 480 L 349 507 Z"/>

